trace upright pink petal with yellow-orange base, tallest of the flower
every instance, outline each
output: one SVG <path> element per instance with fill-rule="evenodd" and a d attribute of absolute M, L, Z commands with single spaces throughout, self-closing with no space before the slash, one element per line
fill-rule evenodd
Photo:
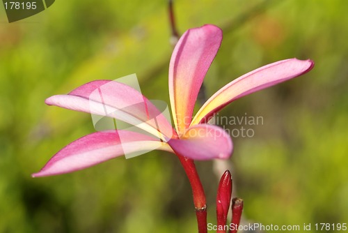
<path fill-rule="evenodd" d="M 198 91 L 221 45 L 222 31 L 204 25 L 186 31 L 169 64 L 169 97 L 177 133 L 189 128 Z"/>

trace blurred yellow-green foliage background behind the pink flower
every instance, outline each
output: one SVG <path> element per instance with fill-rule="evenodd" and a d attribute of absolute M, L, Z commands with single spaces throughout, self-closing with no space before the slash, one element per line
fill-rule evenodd
<path fill-rule="evenodd" d="M 348 1 L 177 0 L 174 7 L 180 33 L 207 23 L 223 29 L 208 96 L 267 63 L 316 63 L 220 113 L 264 120 L 251 126 L 254 137 L 234 138 L 244 218 L 348 223 Z M 48 107 L 45 98 L 136 73 L 145 96 L 168 101 L 170 36 L 166 1 L 56 1 L 11 24 L 0 7 L 0 232 L 196 232 L 189 183 L 168 153 L 31 178 L 56 151 L 94 132 L 88 114 Z M 208 222 L 216 223 L 218 178 L 211 161 L 197 166 Z"/>

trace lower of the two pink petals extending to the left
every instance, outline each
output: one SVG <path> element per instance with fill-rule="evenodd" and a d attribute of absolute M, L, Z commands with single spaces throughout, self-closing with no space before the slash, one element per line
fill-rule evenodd
<path fill-rule="evenodd" d="M 125 153 L 154 149 L 173 152 L 170 146 L 153 137 L 126 130 L 92 133 L 68 144 L 58 151 L 33 177 L 52 176 L 82 170 L 123 156 Z"/>

